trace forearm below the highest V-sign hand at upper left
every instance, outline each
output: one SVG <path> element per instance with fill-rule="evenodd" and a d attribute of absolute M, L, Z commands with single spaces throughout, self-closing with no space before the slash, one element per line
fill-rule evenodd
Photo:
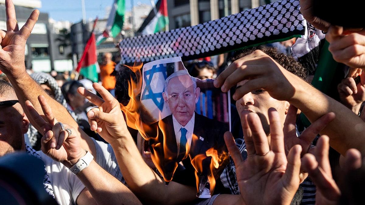
<path fill-rule="evenodd" d="M 90 150 L 92 154 L 95 153 L 95 144 L 92 142 L 92 140 L 89 138 L 87 134 L 85 134 L 84 131 L 80 127 L 78 127 L 78 124 L 76 121 L 72 118 L 72 116 L 69 114 L 67 109 L 59 104 L 56 100 L 51 98 L 42 88 L 38 85 L 37 82 L 35 82 L 25 71 L 25 69 L 19 69 L 17 73 L 9 73 L 7 74 L 7 77 L 9 78 L 9 81 L 11 82 L 12 86 L 14 87 L 16 96 L 18 97 L 18 100 L 20 104 L 22 105 L 24 111 L 26 112 L 27 116 L 29 115 L 26 107 L 25 107 L 25 101 L 29 100 L 34 108 L 37 110 L 38 113 L 43 113 L 42 107 L 38 102 L 38 96 L 43 95 L 49 106 L 51 107 L 52 112 L 54 113 L 54 116 L 56 119 L 60 122 L 66 122 L 72 127 L 77 128 L 77 134 L 81 136 L 81 146 L 85 150 Z M 44 116 L 42 116 L 43 119 L 45 119 Z M 42 135 L 44 135 L 44 131 L 40 128 L 40 126 L 29 117 L 29 120 L 31 124 L 39 131 Z M 45 119 L 46 120 L 46 119 Z"/>

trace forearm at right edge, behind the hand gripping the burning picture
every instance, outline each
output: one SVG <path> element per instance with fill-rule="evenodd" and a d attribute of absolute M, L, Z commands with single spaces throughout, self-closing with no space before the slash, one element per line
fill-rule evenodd
<path fill-rule="evenodd" d="M 328 112 L 335 113 L 335 119 L 320 132 L 330 137 L 331 147 L 342 155 L 349 148 L 356 148 L 365 154 L 365 135 L 362 132 L 365 123 L 360 117 L 304 81 L 298 79 L 294 87 L 295 94 L 289 102 L 300 109 L 311 122 Z"/>

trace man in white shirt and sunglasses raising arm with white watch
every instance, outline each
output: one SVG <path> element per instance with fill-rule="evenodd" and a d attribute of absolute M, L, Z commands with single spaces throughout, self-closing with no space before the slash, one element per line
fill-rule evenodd
<path fill-rule="evenodd" d="M 58 204 L 95 204 L 96 202 L 105 202 L 105 194 L 115 196 L 115 193 L 119 193 L 120 197 L 124 196 L 126 202 L 138 203 L 137 198 L 125 185 L 97 165 L 91 154 L 88 154 L 89 161 L 83 157 L 85 150 L 81 148 L 80 139 L 75 135 L 74 128 L 66 124 L 61 127 L 49 107 L 44 103 L 43 96 L 40 97 L 40 101 L 43 103 L 43 109 L 49 120 L 49 123 L 44 123 L 43 127 L 49 131 L 41 140 L 42 151 L 54 160 L 43 154 L 42 151 L 35 151 L 29 144 L 25 143 L 24 134 L 28 130 L 29 120 L 19 104 L 14 89 L 5 81 L 0 81 L 0 122 L 2 124 L 0 128 L 2 139 L 0 156 L 15 151 L 26 151 L 28 154 L 42 159 L 45 163 L 43 180 L 45 189 Z M 28 106 L 31 106 L 29 102 Z M 31 109 L 30 113 L 36 115 L 39 120 L 43 120 L 38 113 L 34 112 L 34 109 Z M 65 143 L 63 140 L 55 140 L 56 138 L 64 139 L 66 135 L 68 137 Z M 80 173 L 75 175 L 69 168 L 76 164 L 80 158 L 87 161 L 87 168 L 89 169 L 80 170 Z M 94 177 L 96 173 L 98 174 L 97 178 Z M 101 182 L 104 180 L 108 180 L 115 187 L 108 189 L 107 186 L 101 186 L 103 184 Z M 88 188 L 85 188 L 85 185 Z M 93 196 L 90 193 L 93 193 Z M 108 202 L 110 202 L 110 198 L 108 198 Z"/>

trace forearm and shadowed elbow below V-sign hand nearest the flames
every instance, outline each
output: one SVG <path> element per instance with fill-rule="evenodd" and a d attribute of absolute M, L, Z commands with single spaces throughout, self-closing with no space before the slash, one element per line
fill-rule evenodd
<path fill-rule="evenodd" d="M 184 204 L 197 199 L 195 187 L 175 182 L 166 186 L 165 181 L 144 162 L 131 137 L 111 145 L 124 179 L 143 203 Z"/>

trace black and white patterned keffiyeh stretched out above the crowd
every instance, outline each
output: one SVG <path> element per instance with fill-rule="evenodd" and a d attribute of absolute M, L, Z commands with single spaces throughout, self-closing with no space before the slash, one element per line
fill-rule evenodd
<path fill-rule="evenodd" d="M 196 26 L 119 43 L 122 63 L 150 62 L 180 56 L 183 61 L 306 35 L 307 22 L 298 0 L 282 0 Z"/>

